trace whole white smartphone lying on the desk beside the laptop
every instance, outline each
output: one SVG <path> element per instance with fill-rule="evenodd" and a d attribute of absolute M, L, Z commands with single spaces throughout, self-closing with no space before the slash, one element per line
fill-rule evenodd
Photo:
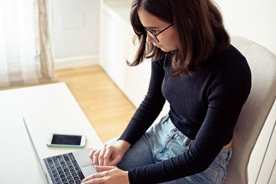
<path fill-rule="evenodd" d="M 77 147 L 86 145 L 85 135 L 50 134 L 46 143 L 49 147 Z"/>

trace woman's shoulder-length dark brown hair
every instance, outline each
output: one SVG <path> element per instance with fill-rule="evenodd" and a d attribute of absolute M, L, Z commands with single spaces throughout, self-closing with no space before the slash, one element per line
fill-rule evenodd
<path fill-rule="evenodd" d="M 130 21 L 139 48 L 129 65 L 139 65 L 148 58 L 155 61 L 168 54 L 146 42 L 147 32 L 139 20 L 139 8 L 162 21 L 173 23 L 177 30 L 180 45 L 172 54 L 172 76 L 193 73 L 214 52 L 222 52 L 230 45 L 221 13 L 211 0 L 133 0 Z"/>

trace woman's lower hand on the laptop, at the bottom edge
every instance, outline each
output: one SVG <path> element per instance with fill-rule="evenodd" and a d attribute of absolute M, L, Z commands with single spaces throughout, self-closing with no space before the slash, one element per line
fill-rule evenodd
<path fill-rule="evenodd" d="M 129 184 L 128 172 L 118 169 L 114 166 L 97 166 L 95 168 L 99 173 L 92 174 L 83 179 L 83 184 L 106 183 L 106 184 Z"/>

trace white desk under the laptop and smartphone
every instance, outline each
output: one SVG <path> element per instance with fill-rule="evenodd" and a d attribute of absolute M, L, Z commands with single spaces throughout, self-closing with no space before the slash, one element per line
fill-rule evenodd
<path fill-rule="evenodd" d="M 47 147 L 51 132 L 85 134 L 86 147 L 102 145 L 65 83 L 0 91 L 0 183 L 43 183 L 22 116 L 41 158 L 78 150 Z"/>

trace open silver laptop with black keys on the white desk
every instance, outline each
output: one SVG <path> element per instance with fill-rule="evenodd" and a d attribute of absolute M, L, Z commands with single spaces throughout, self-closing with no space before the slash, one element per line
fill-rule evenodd
<path fill-rule="evenodd" d="M 94 164 L 88 156 L 91 149 L 83 149 L 77 152 L 68 152 L 39 159 L 37 149 L 34 146 L 24 118 L 23 122 L 44 182 L 50 184 L 78 184 L 81 183 L 83 178 L 97 173 Z"/>

